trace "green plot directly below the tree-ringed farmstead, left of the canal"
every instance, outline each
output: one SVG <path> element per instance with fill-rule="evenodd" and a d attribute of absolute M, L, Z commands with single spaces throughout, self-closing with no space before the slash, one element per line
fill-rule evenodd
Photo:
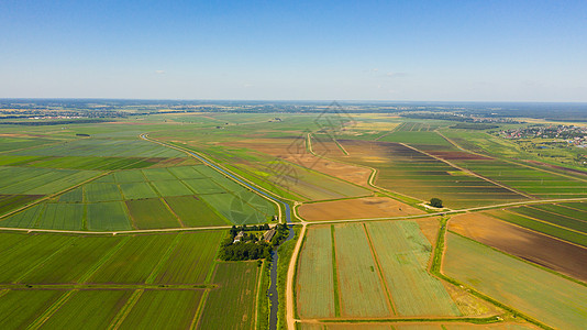
<path fill-rule="evenodd" d="M 210 292 L 198 328 L 253 329 L 258 270 L 254 262 L 219 263 L 212 280 L 219 287 Z"/>

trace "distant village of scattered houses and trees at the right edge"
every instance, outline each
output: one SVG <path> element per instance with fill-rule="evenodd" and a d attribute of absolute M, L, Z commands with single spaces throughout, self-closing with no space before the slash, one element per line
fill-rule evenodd
<path fill-rule="evenodd" d="M 518 139 L 557 139 L 561 142 L 587 147 L 587 128 L 575 125 L 532 125 L 516 130 L 500 131 L 502 138 Z"/>

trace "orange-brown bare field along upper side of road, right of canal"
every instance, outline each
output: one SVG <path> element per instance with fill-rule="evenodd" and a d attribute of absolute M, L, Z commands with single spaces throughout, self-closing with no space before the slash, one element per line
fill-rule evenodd
<path fill-rule="evenodd" d="M 304 204 L 298 209 L 307 221 L 391 218 L 422 215 L 423 211 L 388 197 L 365 197 Z"/>

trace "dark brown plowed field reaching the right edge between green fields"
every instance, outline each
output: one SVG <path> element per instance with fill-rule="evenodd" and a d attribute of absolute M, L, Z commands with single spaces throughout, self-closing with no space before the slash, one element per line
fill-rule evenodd
<path fill-rule="evenodd" d="M 587 249 L 476 213 L 453 217 L 448 229 L 539 265 L 587 282 Z"/>

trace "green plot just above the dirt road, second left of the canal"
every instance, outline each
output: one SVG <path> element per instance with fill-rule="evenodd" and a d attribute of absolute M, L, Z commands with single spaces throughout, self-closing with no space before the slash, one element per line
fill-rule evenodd
<path fill-rule="evenodd" d="M 185 227 L 224 226 L 230 223 L 203 200 L 195 196 L 166 197 L 165 201 L 181 219 L 181 223 Z"/>

